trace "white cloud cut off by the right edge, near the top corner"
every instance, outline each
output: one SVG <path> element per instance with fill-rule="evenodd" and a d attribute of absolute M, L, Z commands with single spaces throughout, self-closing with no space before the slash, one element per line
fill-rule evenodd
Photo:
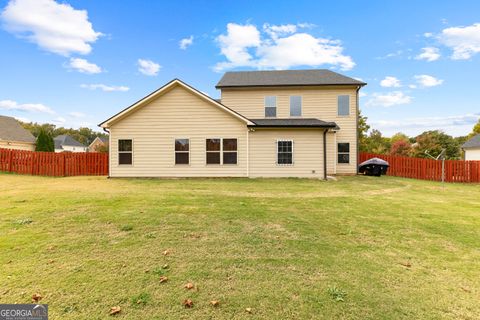
<path fill-rule="evenodd" d="M 453 50 L 453 60 L 470 59 L 480 52 L 480 23 L 443 29 L 438 40 Z"/>

